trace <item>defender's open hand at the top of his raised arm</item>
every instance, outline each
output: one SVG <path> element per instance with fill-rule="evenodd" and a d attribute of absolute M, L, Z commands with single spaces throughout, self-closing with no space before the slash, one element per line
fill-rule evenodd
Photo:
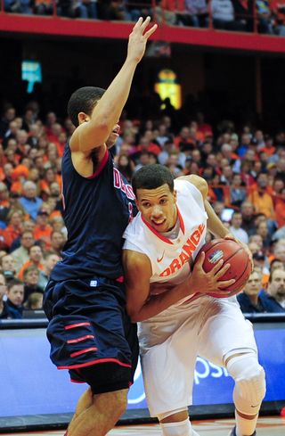
<path fill-rule="evenodd" d="M 142 17 L 135 23 L 134 29 L 129 36 L 127 46 L 127 59 L 135 62 L 140 62 L 145 52 L 146 43 L 152 33 L 157 29 L 158 25 L 154 24 L 151 29 L 145 31 L 151 21 L 151 17 L 147 17 L 144 21 Z"/>

